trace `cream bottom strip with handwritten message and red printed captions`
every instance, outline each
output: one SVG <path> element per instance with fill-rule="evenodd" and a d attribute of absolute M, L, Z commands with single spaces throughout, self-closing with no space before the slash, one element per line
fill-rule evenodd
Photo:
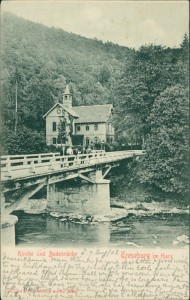
<path fill-rule="evenodd" d="M 188 299 L 187 251 L 2 252 L 2 299 Z"/>

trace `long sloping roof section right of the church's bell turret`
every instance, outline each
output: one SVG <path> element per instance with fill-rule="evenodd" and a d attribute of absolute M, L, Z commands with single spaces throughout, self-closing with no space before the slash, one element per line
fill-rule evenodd
<path fill-rule="evenodd" d="M 75 123 L 104 123 L 109 119 L 113 105 L 74 106 L 72 109 L 79 116 Z"/>

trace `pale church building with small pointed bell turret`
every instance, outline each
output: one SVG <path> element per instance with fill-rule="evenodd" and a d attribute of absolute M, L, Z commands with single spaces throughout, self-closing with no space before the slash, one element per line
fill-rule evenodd
<path fill-rule="evenodd" d="M 57 102 L 44 116 L 46 142 L 54 146 L 82 146 L 101 149 L 114 141 L 113 106 L 72 106 L 72 95 L 66 85 L 63 103 Z"/>

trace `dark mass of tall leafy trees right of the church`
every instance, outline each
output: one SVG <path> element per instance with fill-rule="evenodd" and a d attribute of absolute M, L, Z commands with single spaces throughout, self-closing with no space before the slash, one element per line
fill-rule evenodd
<path fill-rule="evenodd" d="M 136 180 L 157 191 L 188 192 L 188 38 L 179 49 L 143 46 L 117 86 L 116 136 L 143 144 Z"/>

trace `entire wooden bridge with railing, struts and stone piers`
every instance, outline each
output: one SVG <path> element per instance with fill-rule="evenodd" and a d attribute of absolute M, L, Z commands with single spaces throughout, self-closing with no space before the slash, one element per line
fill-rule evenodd
<path fill-rule="evenodd" d="M 59 153 L 2 156 L 1 215 L 4 232 L 10 234 L 9 227 L 17 221 L 9 214 L 44 186 L 47 186 L 48 211 L 109 213 L 110 181 L 105 176 L 124 160 L 143 154 L 141 150 L 94 150 L 90 154 L 69 156 L 60 156 Z"/>

